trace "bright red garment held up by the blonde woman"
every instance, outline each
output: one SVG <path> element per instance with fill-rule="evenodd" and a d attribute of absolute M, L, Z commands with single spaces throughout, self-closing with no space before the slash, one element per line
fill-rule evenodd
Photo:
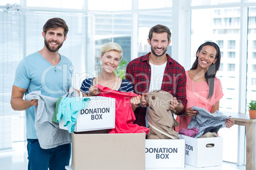
<path fill-rule="evenodd" d="M 133 92 L 120 92 L 96 85 L 101 90 L 99 96 L 115 98 L 115 129 L 108 129 L 108 133 L 143 133 L 148 134 L 149 129 L 133 124 L 135 115 L 130 103 L 131 97 L 138 96 Z"/>

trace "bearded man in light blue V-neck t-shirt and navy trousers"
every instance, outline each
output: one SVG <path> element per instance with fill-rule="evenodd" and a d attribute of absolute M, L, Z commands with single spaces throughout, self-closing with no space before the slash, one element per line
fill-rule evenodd
<path fill-rule="evenodd" d="M 29 169 L 65 169 L 71 157 L 71 144 L 43 149 L 39 146 L 34 127 L 34 105 L 38 100 L 24 100 L 24 95 L 41 91 L 41 95 L 59 98 L 72 86 L 72 62 L 60 55 L 66 41 L 68 25 L 61 18 L 51 18 L 43 26 L 43 49 L 25 57 L 18 65 L 11 93 L 13 110 L 25 110 Z"/>

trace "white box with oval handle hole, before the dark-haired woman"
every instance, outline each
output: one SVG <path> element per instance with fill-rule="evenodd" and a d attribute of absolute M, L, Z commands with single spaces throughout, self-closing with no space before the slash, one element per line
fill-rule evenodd
<path fill-rule="evenodd" d="M 194 167 L 222 166 L 223 138 L 191 138 L 181 135 L 186 141 L 185 164 Z M 212 144 L 213 147 L 206 147 Z"/>

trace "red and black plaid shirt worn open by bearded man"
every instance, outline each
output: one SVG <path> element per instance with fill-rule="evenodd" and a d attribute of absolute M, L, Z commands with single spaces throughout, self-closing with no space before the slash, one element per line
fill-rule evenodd
<path fill-rule="evenodd" d="M 141 56 L 129 62 L 126 68 L 125 77 L 131 81 L 134 93 L 141 95 L 142 93 L 148 93 L 151 78 L 151 67 L 149 64 L 148 56 Z M 184 110 L 187 107 L 187 95 L 186 95 L 186 74 L 185 69 L 171 56 L 167 55 L 166 70 L 164 71 L 164 77 L 162 81 L 161 90 L 171 93 L 177 98 L 179 103 L 182 103 Z M 184 110 L 180 113 L 182 114 Z M 134 123 L 139 126 L 146 126 L 145 115 L 146 108 L 138 107 L 134 111 L 136 121 Z M 179 115 L 180 115 L 179 114 Z"/>

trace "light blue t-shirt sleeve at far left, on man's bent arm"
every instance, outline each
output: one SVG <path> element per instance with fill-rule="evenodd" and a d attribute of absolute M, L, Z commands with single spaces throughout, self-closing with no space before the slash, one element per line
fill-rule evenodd
<path fill-rule="evenodd" d="M 18 88 L 27 89 L 29 88 L 30 81 L 29 64 L 27 63 L 27 60 L 23 59 L 16 69 L 13 85 Z"/>

